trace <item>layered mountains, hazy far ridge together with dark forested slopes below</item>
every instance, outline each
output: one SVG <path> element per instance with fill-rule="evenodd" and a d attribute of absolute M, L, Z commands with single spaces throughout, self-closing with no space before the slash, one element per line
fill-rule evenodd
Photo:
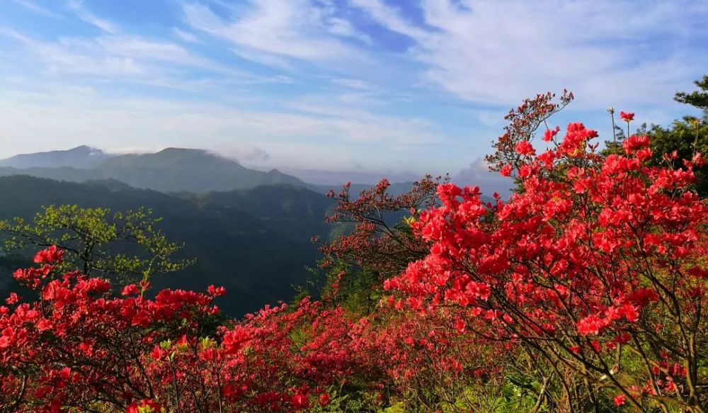
<path fill-rule="evenodd" d="M 344 178 L 329 175 L 331 180 Z M 484 181 L 488 175 L 483 165 L 472 164 L 461 176 Z M 219 305 L 227 314 L 240 316 L 292 299 L 293 285 L 307 283 L 306 267 L 320 258 L 310 239 L 350 229 L 325 222 L 334 206 L 325 193 L 338 185 L 318 182 L 276 169 L 249 169 L 201 149 L 119 155 L 81 146 L 0 160 L 0 220 L 33 217 L 43 205 L 151 208 L 164 219 L 165 234 L 185 243 L 183 258 L 197 259 L 183 271 L 157 276 L 156 288 L 205 290 L 211 284 L 224 285 L 229 294 Z M 404 193 L 411 185 L 392 183 L 389 192 Z M 354 183 L 350 191 L 355 196 L 369 187 Z M 17 288 L 11 273 L 29 261 L 29 256 L 0 254 L 0 297 Z"/>

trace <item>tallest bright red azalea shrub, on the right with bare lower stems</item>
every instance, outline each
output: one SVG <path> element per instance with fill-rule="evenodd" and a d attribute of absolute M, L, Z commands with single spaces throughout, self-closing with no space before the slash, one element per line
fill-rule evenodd
<path fill-rule="evenodd" d="M 430 253 L 384 286 L 413 309 L 466 309 L 481 334 L 547 361 L 572 410 L 583 387 L 593 402 L 612 389 L 617 405 L 703 412 L 708 209 L 691 191 L 703 159 L 646 166 L 641 136 L 603 158 L 597 136 L 571 123 L 541 154 L 515 145 L 523 191 L 492 208 L 475 187 L 439 186 L 442 205 L 412 225 Z"/>

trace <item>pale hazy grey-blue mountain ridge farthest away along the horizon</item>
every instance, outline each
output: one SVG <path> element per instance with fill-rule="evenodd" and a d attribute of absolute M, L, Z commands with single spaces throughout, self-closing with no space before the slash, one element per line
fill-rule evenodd
<path fill-rule="evenodd" d="M 353 181 L 351 190 L 358 193 L 374 185 L 380 178 L 392 182 L 389 191 L 404 193 L 412 181 L 421 176 L 411 173 L 379 174 L 366 171 L 329 171 L 324 169 L 287 169 L 288 173 L 270 169 L 249 169 L 234 159 L 203 149 L 167 148 L 154 154 L 108 154 L 88 146 L 64 151 L 19 154 L 0 159 L 0 176 L 25 174 L 59 181 L 86 182 L 115 179 L 134 188 L 161 192 L 208 193 L 233 191 L 256 186 L 289 184 L 316 192 L 338 188 Z M 481 159 L 452 176 L 460 186 L 478 185 L 483 193 L 510 194 L 509 179 L 491 174 Z"/>

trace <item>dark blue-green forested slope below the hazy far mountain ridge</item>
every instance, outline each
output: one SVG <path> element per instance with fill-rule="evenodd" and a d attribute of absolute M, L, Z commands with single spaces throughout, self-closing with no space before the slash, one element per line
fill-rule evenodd
<path fill-rule="evenodd" d="M 205 290 L 224 285 L 218 303 L 231 315 L 243 315 L 265 303 L 289 300 L 292 285 L 307 279 L 305 266 L 319 257 L 309 238 L 328 234 L 326 196 L 294 186 L 263 186 L 205 196 L 171 196 L 135 189 L 116 181 L 59 182 L 30 176 L 0 177 L 0 219 L 32 217 L 42 205 L 137 209 L 146 206 L 164 217 L 161 227 L 185 242 L 183 255 L 195 266 L 154 278 L 157 288 Z M 0 256 L 0 296 L 11 287 L 17 262 Z M 3 264 L 4 263 L 4 264 Z"/>

